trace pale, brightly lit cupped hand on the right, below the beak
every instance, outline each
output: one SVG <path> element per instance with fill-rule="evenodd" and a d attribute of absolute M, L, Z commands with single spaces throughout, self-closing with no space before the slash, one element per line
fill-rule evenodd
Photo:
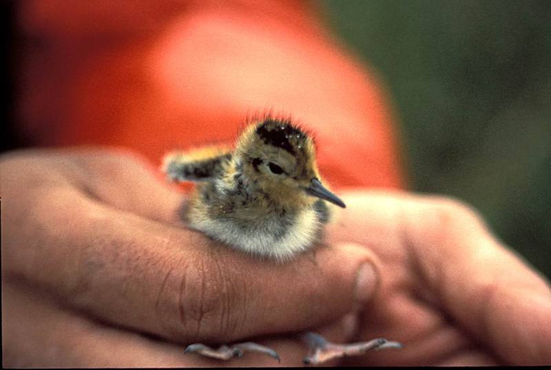
<path fill-rule="evenodd" d="M 466 205 L 448 198 L 351 192 L 328 242 L 366 245 L 380 287 L 355 340 L 384 336 L 400 351 L 356 365 L 551 363 L 551 293 Z"/>

